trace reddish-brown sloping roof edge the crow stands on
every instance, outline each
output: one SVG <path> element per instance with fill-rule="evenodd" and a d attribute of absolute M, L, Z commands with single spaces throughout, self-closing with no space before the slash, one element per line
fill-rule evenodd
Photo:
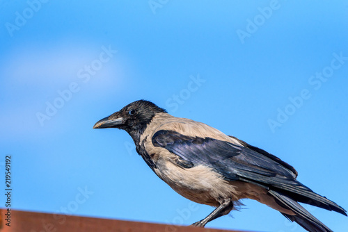
<path fill-rule="evenodd" d="M 34 213 L 20 210 L 10 210 L 10 226 L 7 226 L 7 210 L 0 209 L 0 213 L 1 232 L 228 232 L 226 230 L 204 229 L 191 226 L 129 222 L 116 219 Z"/>

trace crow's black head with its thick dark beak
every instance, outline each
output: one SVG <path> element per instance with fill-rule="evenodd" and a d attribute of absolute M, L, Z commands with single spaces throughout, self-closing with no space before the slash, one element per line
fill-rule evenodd
<path fill-rule="evenodd" d="M 118 128 L 132 133 L 142 133 L 146 125 L 151 122 L 157 113 L 167 113 L 151 101 L 139 100 L 123 107 L 120 111 L 113 113 L 97 122 L 93 129 Z"/>

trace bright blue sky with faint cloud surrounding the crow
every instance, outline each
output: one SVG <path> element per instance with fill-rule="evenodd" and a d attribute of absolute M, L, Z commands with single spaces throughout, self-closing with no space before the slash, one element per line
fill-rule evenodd
<path fill-rule="evenodd" d="M 0 3 L 0 165 L 11 155 L 13 208 L 183 225 L 207 216 L 125 131 L 92 129 L 138 99 L 271 152 L 348 208 L 347 1 Z M 243 203 L 207 226 L 303 231 Z M 347 217 L 307 208 L 348 230 Z"/>

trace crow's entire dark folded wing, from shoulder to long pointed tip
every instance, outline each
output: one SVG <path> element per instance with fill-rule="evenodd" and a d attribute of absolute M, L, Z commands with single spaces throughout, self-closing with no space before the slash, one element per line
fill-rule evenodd
<path fill-rule="evenodd" d="M 246 181 L 267 189 L 277 189 L 286 192 L 296 201 L 342 213 L 342 208 L 333 201 L 316 194 L 297 181 L 297 172 L 292 166 L 262 149 L 164 130 L 153 135 L 152 144 L 167 149 L 187 163 L 192 163 L 191 167 L 212 167 L 228 181 Z"/>

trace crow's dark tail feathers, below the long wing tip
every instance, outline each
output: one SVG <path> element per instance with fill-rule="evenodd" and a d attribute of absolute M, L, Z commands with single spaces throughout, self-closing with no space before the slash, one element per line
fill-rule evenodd
<path fill-rule="evenodd" d="M 311 215 L 305 208 L 303 208 L 299 203 L 287 197 L 287 195 L 276 192 L 274 190 L 269 190 L 269 193 L 276 199 L 280 206 L 292 210 L 296 215 L 288 215 L 282 213 L 287 219 L 292 222 L 297 222 L 300 226 L 310 232 L 333 232 L 317 218 Z"/>

